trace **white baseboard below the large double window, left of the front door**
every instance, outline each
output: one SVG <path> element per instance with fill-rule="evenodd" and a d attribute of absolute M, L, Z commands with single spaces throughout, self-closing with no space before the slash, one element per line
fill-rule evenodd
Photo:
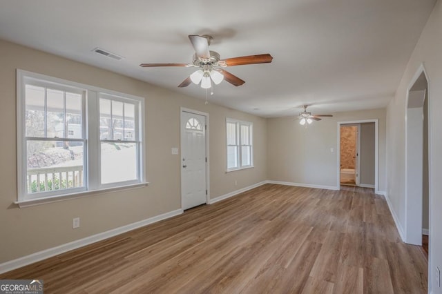
<path fill-rule="evenodd" d="M 44 251 L 39 251 L 37 253 L 32 253 L 31 255 L 26 255 L 23 257 L 19 257 L 17 259 L 13 259 L 9 262 L 4 262 L 0 264 L 0 273 L 6 273 L 8 271 L 12 271 L 16 268 L 21 268 L 22 266 L 26 266 L 28 264 L 33 264 L 34 262 L 39 262 L 40 260 L 59 255 L 61 253 L 65 253 L 67 251 L 71 251 L 73 249 L 77 249 L 89 244 L 93 244 L 95 242 L 101 241 L 103 239 L 108 239 L 110 237 L 126 233 L 128 231 L 132 231 L 135 228 L 141 228 L 142 226 L 146 226 L 148 224 L 153 224 L 155 222 L 160 222 L 160 220 L 168 219 L 169 217 L 174 217 L 176 215 L 180 215 L 183 213 L 182 209 L 177 209 L 170 211 L 169 213 L 163 213 L 162 215 L 157 215 L 155 217 L 150 217 L 148 219 L 144 219 L 140 222 L 134 222 L 133 224 L 128 224 L 126 226 L 120 226 L 119 228 L 113 228 L 112 230 L 98 233 L 96 235 L 92 235 L 83 239 L 78 239 L 73 242 L 69 242 L 66 244 L 62 244 L 60 246 L 52 247 L 46 249 Z"/>

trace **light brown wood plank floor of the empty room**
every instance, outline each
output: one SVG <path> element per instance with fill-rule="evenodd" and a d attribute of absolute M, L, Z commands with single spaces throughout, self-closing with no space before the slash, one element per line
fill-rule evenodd
<path fill-rule="evenodd" d="M 0 275 L 45 293 L 427 293 L 372 189 L 266 184 Z"/>

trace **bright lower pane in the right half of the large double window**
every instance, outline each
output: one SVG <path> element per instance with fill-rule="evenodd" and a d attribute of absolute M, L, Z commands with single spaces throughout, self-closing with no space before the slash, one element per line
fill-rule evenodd
<path fill-rule="evenodd" d="M 137 145 L 102 143 L 102 184 L 137 179 Z"/>

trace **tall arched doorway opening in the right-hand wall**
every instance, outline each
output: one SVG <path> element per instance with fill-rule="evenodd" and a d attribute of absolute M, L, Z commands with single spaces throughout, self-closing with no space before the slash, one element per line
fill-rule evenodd
<path fill-rule="evenodd" d="M 419 68 L 407 91 L 405 127 L 405 242 L 429 253 L 430 153 L 428 80 Z"/>

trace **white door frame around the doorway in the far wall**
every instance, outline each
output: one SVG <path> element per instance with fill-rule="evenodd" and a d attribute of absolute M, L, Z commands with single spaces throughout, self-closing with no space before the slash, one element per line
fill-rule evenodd
<path fill-rule="evenodd" d="M 338 189 L 340 188 L 340 127 L 341 125 L 356 125 L 356 124 L 364 124 L 364 123 L 374 123 L 374 193 L 379 194 L 379 182 L 378 182 L 378 177 L 379 177 L 379 173 L 378 173 L 378 162 L 379 162 L 379 132 L 378 132 L 378 124 L 379 124 L 379 120 L 378 119 L 361 119 L 361 120 L 357 120 L 357 121 L 338 121 L 338 139 L 337 141 L 337 165 L 336 165 L 336 187 L 338 187 Z M 358 145 L 360 145 L 360 137 L 361 136 L 361 131 L 358 134 Z M 358 146 L 358 152 L 360 152 L 360 147 Z M 359 153 L 358 156 L 358 170 L 360 170 L 360 166 L 359 166 L 359 158 L 361 157 L 361 153 Z M 359 173 L 359 171 L 358 171 Z"/>

